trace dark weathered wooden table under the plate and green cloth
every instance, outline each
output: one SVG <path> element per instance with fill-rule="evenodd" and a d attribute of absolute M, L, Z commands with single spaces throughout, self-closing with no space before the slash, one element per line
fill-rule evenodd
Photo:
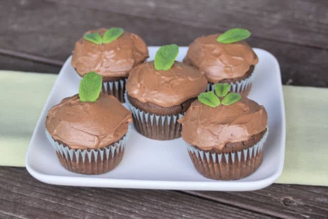
<path fill-rule="evenodd" d="M 97 2 L 92 3 L 92 2 Z M 282 83 L 328 87 L 328 1 L 2 0 L 0 69 L 58 73 L 86 30 L 119 26 L 148 45 L 187 46 L 228 28 L 272 52 Z M 273 184 L 252 192 L 53 186 L 25 168 L 0 167 L 1 218 L 328 216 L 328 188 Z"/>

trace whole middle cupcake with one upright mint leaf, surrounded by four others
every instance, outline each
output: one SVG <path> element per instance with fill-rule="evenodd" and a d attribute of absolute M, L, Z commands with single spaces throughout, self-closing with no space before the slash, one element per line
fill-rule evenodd
<path fill-rule="evenodd" d="M 162 46 L 154 61 L 140 64 L 130 72 L 126 102 L 136 130 L 146 137 L 180 137 L 177 119 L 207 88 L 204 75 L 197 68 L 175 61 L 177 54 L 175 44 Z"/>

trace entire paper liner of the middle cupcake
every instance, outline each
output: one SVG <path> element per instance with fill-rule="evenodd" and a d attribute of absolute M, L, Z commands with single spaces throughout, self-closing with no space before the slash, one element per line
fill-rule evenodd
<path fill-rule="evenodd" d="M 181 137 L 181 124 L 177 120 L 183 114 L 156 115 L 142 111 L 129 102 L 127 92 L 125 102 L 132 112 L 134 127 L 140 134 L 155 140 L 172 140 Z"/>

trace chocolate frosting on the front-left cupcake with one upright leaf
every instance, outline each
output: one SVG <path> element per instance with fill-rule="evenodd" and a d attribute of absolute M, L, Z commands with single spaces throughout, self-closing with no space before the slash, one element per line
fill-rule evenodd
<path fill-rule="evenodd" d="M 54 140 L 72 149 L 106 147 L 124 136 L 131 112 L 114 96 L 100 94 L 96 102 L 81 102 L 78 94 L 49 110 L 46 129 Z"/>

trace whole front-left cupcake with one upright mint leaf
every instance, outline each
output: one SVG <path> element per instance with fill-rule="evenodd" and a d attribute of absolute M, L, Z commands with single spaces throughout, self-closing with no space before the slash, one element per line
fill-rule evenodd
<path fill-rule="evenodd" d="M 90 72 L 81 80 L 79 94 L 64 98 L 47 115 L 46 135 L 69 171 L 105 173 L 122 160 L 132 115 L 100 90 L 101 76 Z"/>

